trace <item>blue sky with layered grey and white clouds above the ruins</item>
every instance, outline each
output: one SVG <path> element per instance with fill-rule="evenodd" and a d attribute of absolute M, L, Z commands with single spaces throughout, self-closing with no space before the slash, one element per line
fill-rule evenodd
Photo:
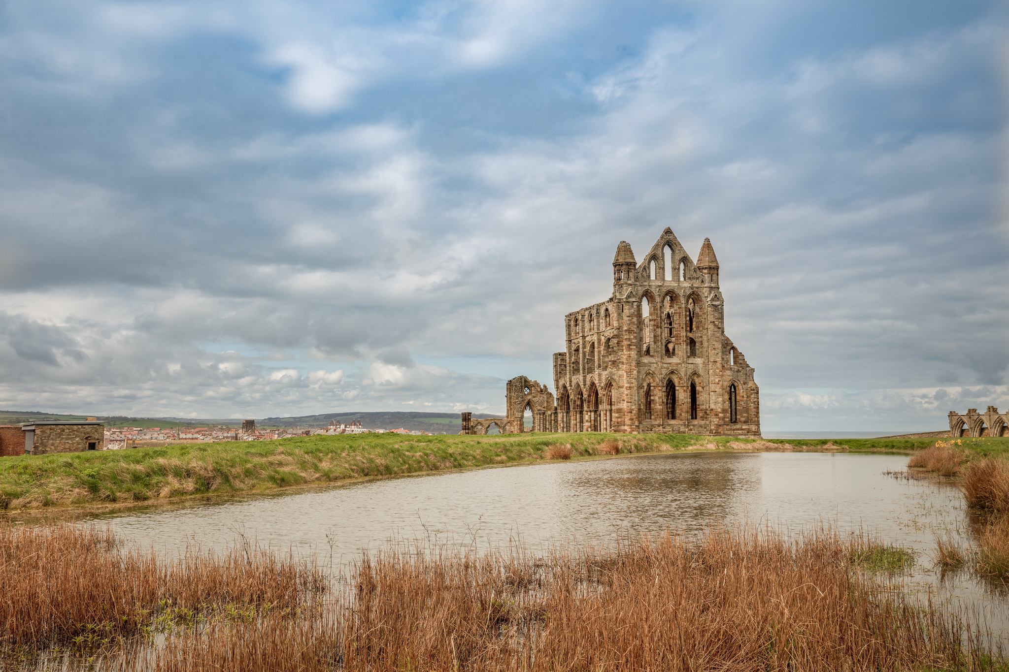
<path fill-rule="evenodd" d="M 668 226 L 764 429 L 1004 409 L 1007 11 L 0 3 L 0 408 L 502 412 Z"/>

